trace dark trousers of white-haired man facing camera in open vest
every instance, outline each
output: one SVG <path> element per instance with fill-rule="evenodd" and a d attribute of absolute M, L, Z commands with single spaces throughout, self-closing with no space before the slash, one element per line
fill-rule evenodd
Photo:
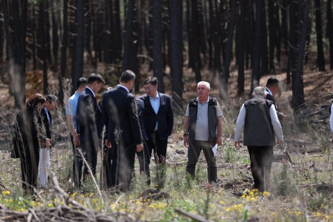
<path fill-rule="evenodd" d="M 196 173 L 196 164 L 198 163 L 198 159 L 203 150 L 203 154 L 205 155 L 205 159 L 207 162 L 207 173 L 208 173 L 208 181 L 215 182 L 217 181 L 217 166 L 216 166 L 216 158 L 214 157 L 214 153 L 212 148 L 215 146 L 215 141 L 200 141 L 194 140 L 189 141 L 189 148 L 187 153 L 187 173 L 191 174 L 191 176 L 195 176 Z"/>

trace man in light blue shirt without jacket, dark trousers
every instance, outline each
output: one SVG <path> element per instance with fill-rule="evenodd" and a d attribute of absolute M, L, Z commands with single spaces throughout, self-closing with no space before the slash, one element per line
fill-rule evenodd
<path fill-rule="evenodd" d="M 69 97 L 66 103 L 66 120 L 67 126 L 69 128 L 69 136 L 71 137 L 71 144 L 73 146 L 74 152 L 74 161 L 73 161 L 73 178 L 74 178 L 74 186 L 76 188 L 80 187 L 81 184 L 81 176 L 82 176 L 82 167 L 83 167 L 83 159 L 78 153 L 77 148 L 80 147 L 80 140 L 78 140 L 78 135 L 75 132 L 76 129 L 76 108 L 78 106 L 78 96 L 80 93 L 85 90 L 87 86 L 88 79 L 85 77 L 81 77 L 76 83 L 76 92 L 73 96 Z M 76 155 L 75 155 L 76 154 Z"/>

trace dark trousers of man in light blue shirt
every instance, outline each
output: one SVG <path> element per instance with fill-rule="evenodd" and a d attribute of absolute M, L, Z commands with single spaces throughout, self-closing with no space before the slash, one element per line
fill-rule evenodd
<path fill-rule="evenodd" d="M 79 188 L 81 187 L 81 179 L 82 179 L 82 167 L 83 167 L 83 158 L 80 155 L 79 150 L 81 149 L 80 146 L 76 146 L 73 143 L 73 136 L 69 133 L 71 138 L 71 146 L 73 148 L 73 180 L 74 180 L 74 187 Z"/>

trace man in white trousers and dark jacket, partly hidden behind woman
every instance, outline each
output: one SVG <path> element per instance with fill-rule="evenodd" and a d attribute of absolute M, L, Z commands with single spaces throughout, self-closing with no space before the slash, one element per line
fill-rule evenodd
<path fill-rule="evenodd" d="M 52 139 L 52 117 L 51 110 L 54 110 L 58 101 L 57 96 L 49 94 L 45 97 L 46 102 L 41 112 L 43 126 L 46 133 L 46 137 Z M 38 175 L 40 176 L 40 188 L 44 188 L 47 185 L 47 178 L 49 176 L 50 169 L 50 148 L 44 147 L 40 149 L 40 163 L 38 164 Z"/>

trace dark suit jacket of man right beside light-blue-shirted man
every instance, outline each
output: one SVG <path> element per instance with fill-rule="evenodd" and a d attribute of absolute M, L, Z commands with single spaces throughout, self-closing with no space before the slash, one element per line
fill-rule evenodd
<path fill-rule="evenodd" d="M 81 142 L 99 142 L 103 130 L 102 111 L 92 91 L 85 88 L 78 97 L 76 110 L 76 132 L 80 134 Z"/>

